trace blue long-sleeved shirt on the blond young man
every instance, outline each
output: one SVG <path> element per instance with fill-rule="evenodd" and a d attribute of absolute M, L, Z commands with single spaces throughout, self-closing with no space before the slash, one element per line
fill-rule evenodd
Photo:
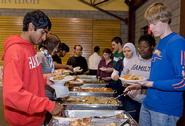
<path fill-rule="evenodd" d="M 147 90 L 144 106 L 167 115 L 183 113 L 185 90 L 185 39 L 171 33 L 161 39 L 152 57 L 150 79 L 153 87 Z"/>

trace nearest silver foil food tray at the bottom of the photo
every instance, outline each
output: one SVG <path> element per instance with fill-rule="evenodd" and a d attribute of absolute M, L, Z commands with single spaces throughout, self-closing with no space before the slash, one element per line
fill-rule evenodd
<path fill-rule="evenodd" d="M 53 117 L 50 121 L 50 126 L 69 126 L 70 121 L 79 118 L 90 118 L 92 126 L 107 126 L 111 123 L 114 123 L 116 126 L 124 126 L 126 123 L 129 125 L 129 116 L 122 110 L 65 110 L 64 116 Z"/>

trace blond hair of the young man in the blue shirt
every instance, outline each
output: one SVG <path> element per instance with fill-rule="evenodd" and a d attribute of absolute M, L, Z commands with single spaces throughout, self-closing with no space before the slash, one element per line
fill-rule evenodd
<path fill-rule="evenodd" d="M 149 22 L 161 21 L 163 23 L 171 23 L 171 11 L 163 3 L 153 3 L 150 5 L 144 14 L 144 18 Z"/>

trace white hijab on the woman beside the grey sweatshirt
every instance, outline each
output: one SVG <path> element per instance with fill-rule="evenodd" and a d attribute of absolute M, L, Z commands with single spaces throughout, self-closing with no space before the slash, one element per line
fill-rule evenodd
<path fill-rule="evenodd" d="M 124 58 L 123 59 L 123 64 L 124 64 L 124 66 L 127 66 L 128 64 L 129 64 L 129 62 L 134 62 L 135 61 L 135 59 L 136 58 L 138 58 L 138 55 L 137 55 L 137 53 L 136 53 L 136 47 L 134 46 L 134 44 L 132 44 L 132 43 L 126 43 L 124 46 L 123 46 L 123 50 L 125 49 L 125 48 L 129 48 L 131 51 L 132 51 L 132 57 L 131 58 Z"/>

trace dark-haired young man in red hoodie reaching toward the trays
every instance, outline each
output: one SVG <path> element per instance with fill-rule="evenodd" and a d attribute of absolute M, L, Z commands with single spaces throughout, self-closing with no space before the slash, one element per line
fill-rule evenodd
<path fill-rule="evenodd" d="M 21 35 L 4 43 L 3 102 L 10 126 L 41 126 L 46 111 L 58 115 L 63 106 L 45 97 L 46 79 L 34 45 L 46 39 L 51 22 L 42 11 L 28 12 Z"/>

